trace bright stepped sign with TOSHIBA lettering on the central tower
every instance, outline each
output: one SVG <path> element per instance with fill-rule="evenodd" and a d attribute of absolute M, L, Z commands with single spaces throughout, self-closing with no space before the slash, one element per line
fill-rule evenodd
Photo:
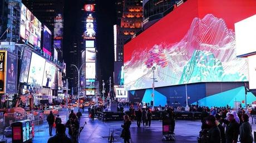
<path fill-rule="evenodd" d="M 93 17 L 92 14 L 88 14 L 86 18 L 86 31 L 83 33 L 84 39 L 95 39 L 95 29 L 93 25 Z"/>

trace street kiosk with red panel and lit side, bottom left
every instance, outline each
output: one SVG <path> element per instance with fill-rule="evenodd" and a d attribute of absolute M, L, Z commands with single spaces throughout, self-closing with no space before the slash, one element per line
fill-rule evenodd
<path fill-rule="evenodd" d="M 32 122 L 22 120 L 12 123 L 12 143 L 32 141 Z"/>

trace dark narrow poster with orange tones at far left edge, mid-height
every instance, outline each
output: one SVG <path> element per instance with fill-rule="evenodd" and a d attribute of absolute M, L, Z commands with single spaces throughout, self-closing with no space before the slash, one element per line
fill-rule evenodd
<path fill-rule="evenodd" d="M 0 50 L 0 93 L 4 93 L 4 68 L 5 68 L 6 52 Z"/>

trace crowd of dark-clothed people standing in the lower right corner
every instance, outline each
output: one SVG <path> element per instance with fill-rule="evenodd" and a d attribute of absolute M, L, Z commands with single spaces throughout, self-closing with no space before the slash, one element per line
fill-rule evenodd
<path fill-rule="evenodd" d="M 256 111 L 256 109 L 253 109 Z M 253 113 L 252 111 L 252 113 Z M 254 114 L 254 113 L 253 113 Z M 243 108 L 238 111 L 229 106 L 222 108 L 203 108 L 201 113 L 201 131 L 199 142 L 214 143 L 252 143 L 252 126 L 250 113 Z M 255 118 L 252 118 L 252 123 Z"/>

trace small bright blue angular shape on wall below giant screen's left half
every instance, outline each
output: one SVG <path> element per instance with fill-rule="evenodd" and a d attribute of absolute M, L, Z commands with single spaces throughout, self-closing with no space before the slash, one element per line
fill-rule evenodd
<path fill-rule="evenodd" d="M 145 94 L 142 99 L 142 103 L 150 103 L 152 101 L 152 89 L 146 89 Z M 166 96 L 163 94 L 160 94 L 155 90 L 155 106 L 165 106 L 167 103 Z"/>

